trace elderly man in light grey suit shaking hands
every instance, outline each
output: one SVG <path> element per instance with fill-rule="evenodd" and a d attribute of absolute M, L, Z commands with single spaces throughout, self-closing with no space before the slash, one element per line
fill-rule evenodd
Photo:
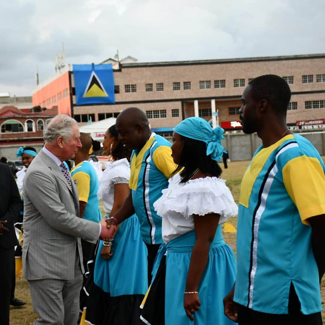
<path fill-rule="evenodd" d="M 79 218 L 78 191 L 63 163 L 81 148 L 79 136 L 74 119 L 54 117 L 24 180 L 23 265 L 40 316 L 34 324 L 77 324 L 84 273 L 80 238 L 96 243 L 111 234 L 104 220 Z"/>

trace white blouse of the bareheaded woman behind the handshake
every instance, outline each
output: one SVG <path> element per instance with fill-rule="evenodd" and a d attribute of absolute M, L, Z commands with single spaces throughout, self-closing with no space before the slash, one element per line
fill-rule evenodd
<path fill-rule="evenodd" d="M 112 211 L 114 203 L 114 185 L 128 184 L 130 179 L 130 164 L 126 158 L 105 162 L 106 169 L 100 179 L 98 200 L 103 200 L 104 210 L 107 214 Z"/>

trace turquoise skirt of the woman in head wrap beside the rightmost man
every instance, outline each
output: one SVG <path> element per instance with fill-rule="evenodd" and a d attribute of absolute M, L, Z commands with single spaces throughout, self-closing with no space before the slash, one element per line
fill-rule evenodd
<path fill-rule="evenodd" d="M 211 243 L 208 262 L 198 288 L 201 307 L 194 315 L 194 322 L 186 316 L 183 307 L 184 291 L 195 241 L 195 231 L 192 230 L 171 240 L 167 245 L 162 244 L 157 254 L 153 269 L 154 276 L 162 256 L 167 251 L 164 302 L 165 324 L 233 325 L 234 323 L 224 315 L 223 298 L 234 285 L 236 260 L 232 249 L 222 238 L 221 226 L 218 226 L 214 240 Z"/>

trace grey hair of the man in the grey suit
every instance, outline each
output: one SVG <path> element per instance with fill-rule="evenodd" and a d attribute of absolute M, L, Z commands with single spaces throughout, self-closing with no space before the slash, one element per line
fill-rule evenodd
<path fill-rule="evenodd" d="M 64 114 L 59 114 L 52 119 L 46 120 L 43 137 L 45 143 L 52 144 L 59 136 L 63 136 L 65 142 L 72 136 L 72 125 L 76 120 Z"/>

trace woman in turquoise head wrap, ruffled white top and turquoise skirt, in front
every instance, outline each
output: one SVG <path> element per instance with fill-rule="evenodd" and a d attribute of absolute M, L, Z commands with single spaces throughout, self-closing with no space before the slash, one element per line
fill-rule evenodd
<path fill-rule="evenodd" d="M 233 323 L 224 316 L 223 297 L 234 284 L 236 261 L 220 224 L 236 215 L 238 208 L 219 178 L 223 132 L 220 127 L 212 130 L 199 117 L 175 127 L 171 149 L 178 167 L 154 203 L 162 217 L 164 244 L 142 305 L 144 323 Z"/>

